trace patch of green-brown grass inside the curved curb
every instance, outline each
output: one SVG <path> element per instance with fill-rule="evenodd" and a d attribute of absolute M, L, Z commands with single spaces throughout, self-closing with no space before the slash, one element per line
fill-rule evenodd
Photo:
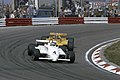
<path fill-rule="evenodd" d="M 109 46 L 105 52 L 104 56 L 112 63 L 120 66 L 120 41 Z"/>

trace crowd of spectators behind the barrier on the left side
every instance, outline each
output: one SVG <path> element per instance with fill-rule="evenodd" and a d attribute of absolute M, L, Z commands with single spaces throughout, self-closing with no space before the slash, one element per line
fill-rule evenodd
<path fill-rule="evenodd" d="M 6 9 L 4 18 L 31 18 L 36 16 L 36 8 L 34 7 L 21 7 L 16 10 Z"/>

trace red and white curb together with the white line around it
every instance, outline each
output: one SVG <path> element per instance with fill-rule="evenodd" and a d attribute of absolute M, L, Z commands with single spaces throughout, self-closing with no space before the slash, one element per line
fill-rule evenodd
<path fill-rule="evenodd" d="M 102 59 L 102 55 L 100 54 L 102 52 L 102 49 L 107 47 L 108 45 L 112 44 L 113 42 L 115 41 L 120 41 L 120 38 L 116 38 L 116 39 L 112 39 L 112 40 L 109 40 L 109 41 L 105 41 L 105 42 L 102 42 L 100 44 L 97 44 L 96 46 L 93 46 L 91 49 L 89 49 L 87 52 L 86 52 L 86 55 L 85 55 L 85 59 L 86 61 L 93 65 L 95 68 L 101 70 L 100 68 L 104 69 L 104 70 L 107 70 L 111 73 L 114 73 L 114 74 L 117 74 L 117 75 L 120 75 L 120 67 L 119 66 L 114 66 L 114 65 L 111 65 L 109 62 L 107 61 L 104 61 L 104 59 Z M 105 44 L 105 45 L 104 45 Z M 103 46 L 101 46 L 103 45 Z M 99 47 L 101 46 L 101 47 Z M 97 48 L 99 47 L 99 48 Z M 90 54 L 90 52 L 97 48 L 93 53 L 92 53 L 92 56 L 91 56 L 91 59 L 92 59 L 92 63 L 89 58 L 88 58 L 88 55 Z M 97 67 L 96 67 L 96 66 Z M 99 68 L 98 68 L 99 67 Z"/>

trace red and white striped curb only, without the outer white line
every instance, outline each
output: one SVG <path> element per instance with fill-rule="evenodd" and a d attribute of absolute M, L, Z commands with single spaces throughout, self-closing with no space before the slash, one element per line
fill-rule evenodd
<path fill-rule="evenodd" d="M 109 72 L 112 72 L 112 73 L 115 73 L 115 74 L 118 74 L 120 75 L 120 68 L 119 67 L 116 67 L 116 66 L 113 66 L 111 64 L 109 64 L 108 62 L 105 62 L 101 57 L 101 51 L 104 47 L 108 46 L 109 44 L 107 45 L 104 45 L 100 48 L 98 48 L 97 50 L 95 50 L 92 54 L 92 61 L 95 65 L 97 65 L 98 67 L 104 69 L 104 70 L 107 70 Z"/>

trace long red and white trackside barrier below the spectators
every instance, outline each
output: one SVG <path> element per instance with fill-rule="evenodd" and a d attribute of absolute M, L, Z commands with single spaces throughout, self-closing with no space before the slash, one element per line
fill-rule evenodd
<path fill-rule="evenodd" d="M 41 24 L 86 24 L 86 23 L 119 23 L 120 18 L 113 17 L 46 17 L 46 18 L 30 18 L 30 19 L 18 19 L 18 18 L 1 18 L 0 27 L 2 26 L 29 26 L 29 25 L 41 25 Z"/>

